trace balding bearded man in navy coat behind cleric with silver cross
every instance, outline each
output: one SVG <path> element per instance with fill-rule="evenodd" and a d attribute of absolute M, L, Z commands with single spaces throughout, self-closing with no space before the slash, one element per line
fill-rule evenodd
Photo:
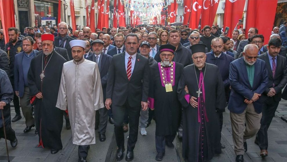
<path fill-rule="evenodd" d="M 229 65 L 230 65 L 230 62 L 234 60 L 234 58 L 223 52 L 224 43 L 221 38 L 216 37 L 212 39 L 211 49 L 212 51 L 206 54 L 206 62 L 216 65 L 219 68 L 222 81 L 224 84 L 225 98 L 226 98 L 226 101 L 228 101 L 229 94 L 230 94 Z M 219 128 L 221 132 L 222 124 L 223 124 L 223 115 L 222 115 L 222 112 L 217 112 L 217 114 L 219 115 L 219 122 L 220 122 Z M 221 144 L 221 148 L 225 148 L 225 146 Z"/>

